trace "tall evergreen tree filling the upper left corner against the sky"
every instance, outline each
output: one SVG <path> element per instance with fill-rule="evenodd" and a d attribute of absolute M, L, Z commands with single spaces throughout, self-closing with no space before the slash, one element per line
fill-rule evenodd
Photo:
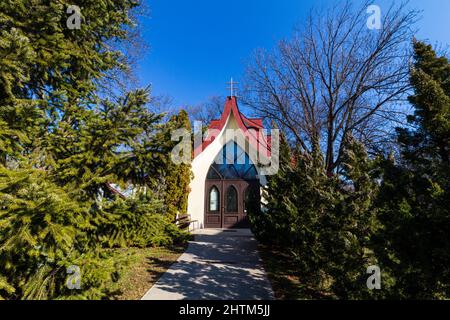
<path fill-rule="evenodd" d="M 81 9 L 80 29 L 67 27 L 71 5 Z M 24 148 L 45 147 L 42 137 L 60 121 L 76 127 L 76 111 L 96 102 L 102 77 L 127 68 L 114 43 L 130 37 L 137 5 L 115 0 L 0 3 L 0 120 L 9 127 L 0 145 L 14 146 L 1 155 L 3 164 Z"/>

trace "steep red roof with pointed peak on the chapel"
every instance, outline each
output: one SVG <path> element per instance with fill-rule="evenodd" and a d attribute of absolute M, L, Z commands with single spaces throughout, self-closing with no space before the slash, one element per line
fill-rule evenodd
<path fill-rule="evenodd" d="M 219 135 L 224 128 L 228 117 L 233 113 L 238 127 L 242 130 L 245 138 L 253 145 L 255 149 L 270 156 L 271 136 L 264 133 L 263 120 L 261 118 L 250 119 L 245 117 L 238 108 L 236 97 L 227 97 L 224 110 L 220 119 L 211 120 L 208 126 L 206 138 L 203 143 L 194 150 L 194 157 L 205 150 L 211 142 Z"/>

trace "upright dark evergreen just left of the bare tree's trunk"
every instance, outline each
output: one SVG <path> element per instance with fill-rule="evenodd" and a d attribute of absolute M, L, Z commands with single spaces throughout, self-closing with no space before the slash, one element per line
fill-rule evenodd
<path fill-rule="evenodd" d="M 299 277 L 317 292 L 329 290 L 331 278 L 327 268 L 335 258 L 330 246 L 336 235 L 331 232 L 328 219 L 336 204 L 335 184 L 335 179 L 328 177 L 324 170 L 320 152 L 315 152 L 312 157 L 297 156 L 289 191 L 291 196 L 286 199 L 292 217 L 288 239 L 292 243 Z"/>

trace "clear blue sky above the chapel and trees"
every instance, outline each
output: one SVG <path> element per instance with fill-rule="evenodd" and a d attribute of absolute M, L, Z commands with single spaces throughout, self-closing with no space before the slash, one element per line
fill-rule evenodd
<path fill-rule="evenodd" d="M 359 1 L 356 0 L 356 3 Z M 374 1 L 383 10 L 389 0 Z M 142 33 L 150 46 L 138 63 L 140 84 L 170 95 L 176 106 L 226 95 L 256 48 L 273 48 L 308 10 L 325 0 L 147 0 Z M 450 1 L 412 0 L 423 10 L 418 37 L 450 45 Z"/>

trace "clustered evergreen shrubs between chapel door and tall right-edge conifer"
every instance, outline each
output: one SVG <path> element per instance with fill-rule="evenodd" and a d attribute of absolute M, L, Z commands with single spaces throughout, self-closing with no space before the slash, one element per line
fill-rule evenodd
<path fill-rule="evenodd" d="M 363 146 L 347 139 L 338 179 L 326 174 L 320 152 L 313 157 L 291 152 L 284 138 L 280 145 L 281 167 L 269 178 L 266 210 L 251 213 L 254 232 L 289 251 L 302 284 L 318 294 L 368 294 L 366 268 L 373 257 L 367 245 L 376 187 Z"/>

